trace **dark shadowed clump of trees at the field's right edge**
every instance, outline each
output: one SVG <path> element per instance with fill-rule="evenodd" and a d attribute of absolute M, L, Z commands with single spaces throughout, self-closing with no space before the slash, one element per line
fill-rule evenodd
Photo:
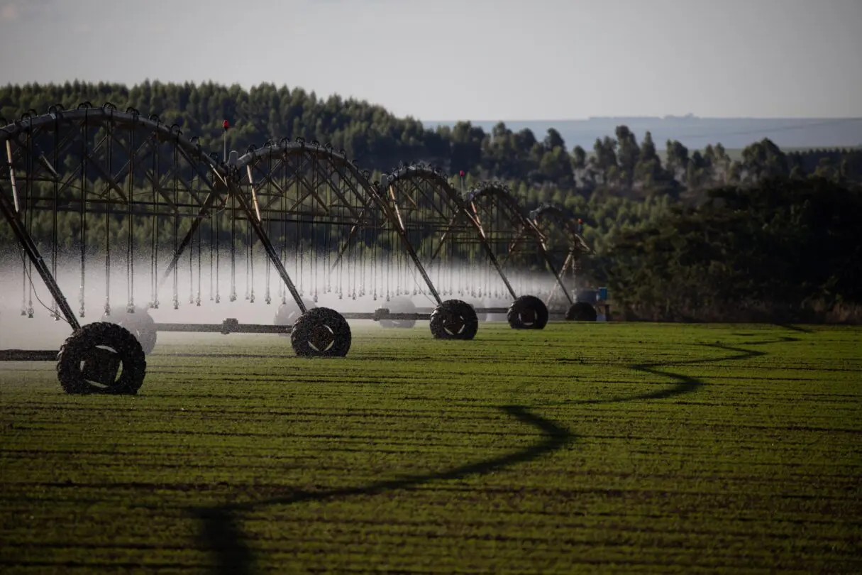
<path fill-rule="evenodd" d="M 827 178 L 709 190 L 623 230 L 597 266 L 632 317 L 862 320 L 862 191 Z"/>

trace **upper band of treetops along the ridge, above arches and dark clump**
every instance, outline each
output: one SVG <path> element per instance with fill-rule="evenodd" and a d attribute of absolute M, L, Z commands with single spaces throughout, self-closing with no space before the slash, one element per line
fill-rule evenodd
<path fill-rule="evenodd" d="M 817 176 L 838 181 L 862 179 L 862 149 L 783 153 L 768 139 L 753 142 L 741 157 L 731 159 L 721 143 L 689 150 L 666 141 L 664 158 L 647 132 L 642 141 L 626 126 L 597 139 L 591 150 L 568 150 L 556 129 L 537 137 L 500 122 L 486 133 L 471 122 L 425 128 L 422 122 L 399 118 L 381 106 L 353 98 L 317 97 L 302 88 L 239 85 L 124 84 L 7 85 L 0 89 L 0 122 L 25 114 L 45 113 L 60 104 L 110 102 L 118 109 L 137 109 L 161 122 L 177 124 L 197 135 L 204 148 L 222 149 L 222 122 L 228 120 L 228 148 L 239 151 L 287 137 L 328 142 L 343 149 L 359 166 L 385 172 L 402 162 L 424 161 L 450 173 L 476 178 L 502 178 L 589 195 L 603 190 L 622 195 L 653 192 L 681 194 L 713 185 L 746 184 L 771 176 Z M 3 122 L 3 123 L 5 123 Z"/>

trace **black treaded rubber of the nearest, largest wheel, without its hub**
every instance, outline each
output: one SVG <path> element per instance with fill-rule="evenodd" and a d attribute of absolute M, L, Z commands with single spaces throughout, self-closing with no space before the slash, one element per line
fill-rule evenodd
<path fill-rule="evenodd" d="M 114 384 L 102 386 L 84 379 L 81 362 L 94 347 L 108 347 L 119 356 L 122 372 Z M 66 338 L 57 354 L 57 378 L 70 394 L 134 395 L 147 375 L 147 356 L 134 334 L 121 325 L 94 322 Z"/>

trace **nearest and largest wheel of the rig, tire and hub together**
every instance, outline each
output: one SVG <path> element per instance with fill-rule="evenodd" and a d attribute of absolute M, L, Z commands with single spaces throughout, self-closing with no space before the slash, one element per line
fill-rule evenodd
<path fill-rule="evenodd" d="M 57 354 L 57 377 L 66 393 L 134 395 L 146 372 L 141 343 L 116 323 L 88 323 Z"/>

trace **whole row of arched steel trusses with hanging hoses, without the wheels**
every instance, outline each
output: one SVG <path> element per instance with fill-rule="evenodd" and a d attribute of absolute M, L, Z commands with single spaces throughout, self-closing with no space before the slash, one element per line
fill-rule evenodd
<path fill-rule="evenodd" d="M 102 107 L 82 103 L 78 109 L 69 110 L 52 106 L 43 116 L 28 113 L 19 121 L 0 128 L 0 150 L 4 152 L 0 156 L 0 211 L 30 265 L 50 291 L 55 315 L 62 316 L 73 332 L 82 326 L 59 288 L 57 253 L 52 254 L 49 266 L 28 228 L 28 214 L 53 212 L 54 247 L 57 214 L 76 214 L 81 218 L 81 308 L 78 310 L 81 317 L 85 311 L 86 220 L 116 215 L 127 218 L 129 246 L 134 218 L 172 219 L 172 258 L 160 281 L 154 279 L 153 282 L 164 284 L 173 274 L 174 307 L 178 306 L 178 262 L 191 246 L 202 222 L 216 212 L 227 212 L 234 221 L 246 222 L 253 230 L 255 240 L 264 248 L 268 264 L 275 269 L 303 314 L 309 309 L 284 268 L 283 254 L 278 253 L 272 241 L 273 226 L 292 223 L 347 228 L 347 233 L 339 236 L 338 245 L 333 246 L 337 256 L 332 269 L 345 259 L 362 234 L 372 237 L 393 234 L 415 272 L 422 277 L 423 292 L 427 290 L 438 306 L 445 303 L 442 296 L 447 295 L 447 291 L 445 288 L 438 290 L 427 268 L 439 262 L 447 243 L 456 247 L 478 244 L 515 298 L 517 294 L 503 268 L 513 247 L 529 241 L 539 247 L 559 287 L 569 297 L 536 222 L 524 214 L 520 203 L 502 184 L 484 184 L 464 194 L 455 190 L 442 172 L 424 165 L 401 166 L 385 174 L 381 182 L 372 182 L 370 173 L 347 159 L 343 150 L 336 152 L 331 146 L 302 139 L 269 141 L 264 147 L 250 147 L 239 158 L 220 162 L 203 151 L 196 138 L 187 139 L 178 124 L 168 126 L 158 116 L 144 117 L 131 108 L 121 111 L 110 103 Z M 502 236 L 497 234 L 490 238 L 489 224 L 484 222 L 490 213 L 498 212 L 505 213 L 510 226 L 508 249 L 502 261 L 502 254 L 496 253 L 491 245 Z M 188 224 L 188 229 L 178 241 L 180 222 Z M 107 229 L 107 220 L 105 226 Z M 281 239 L 284 241 L 284 235 Z M 109 241 L 109 234 L 106 234 L 106 241 Z M 158 243 L 153 239 L 153 251 L 158 250 Z M 134 313 L 131 281 L 128 290 L 127 312 Z M 154 287 L 154 293 L 158 293 L 158 287 Z M 453 294 L 451 286 L 448 294 Z M 150 305 L 158 307 L 158 298 Z M 499 313 L 505 309 L 480 311 Z M 107 297 L 105 312 L 110 313 Z M 401 316 L 428 318 L 425 313 Z M 345 314 L 343 317 L 380 320 L 397 319 L 399 314 L 390 314 L 384 308 L 372 314 Z M 214 325 L 157 324 L 156 327 L 163 331 L 188 329 L 222 333 L 291 331 L 290 326 L 241 326 L 235 320 Z"/>

